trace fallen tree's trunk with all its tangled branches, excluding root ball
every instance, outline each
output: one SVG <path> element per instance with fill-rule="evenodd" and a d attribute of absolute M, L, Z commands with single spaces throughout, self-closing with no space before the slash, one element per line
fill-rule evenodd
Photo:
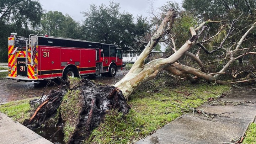
<path fill-rule="evenodd" d="M 250 32 L 255 27 L 256 22 L 252 23 L 248 28 L 245 27 L 244 29 L 247 30 L 244 30 L 245 33 L 241 35 L 241 31 L 239 33 L 234 33 L 234 24 L 236 21 L 238 21 L 238 19 L 233 20 L 233 23 L 225 26 L 221 25 L 221 21 L 208 20 L 202 22 L 196 28 L 191 27 L 191 38 L 188 39 L 179 49 L 176 49 L 174 38 L 169 37 L 173 44 L 172 50 L 174 53 L 170 57 L 155 59 L 145 64 L 146 58 L 154 46 L 160 41 L 160 39 L 171 36 L 171 28 L 175 16 L 176 15 L 173 9 L 167 13 L 158 30 L 151 37 L 150 42 L 139 55 L 139 58 L 133 64 L 128 74 L 114 85 L 123 91 L 123 94 L 126 98 L 128 98 L 128 96 L 132 94 L 132 92 L 140 85 L 146 81 L 154 79 L 155 76 L 163 70 L 174 76 L 181 76 L 182 78 L 188 79 L 192 83 L 195 83 L 198 79 L 204 79 L 208 82 L 217 84 L 232 84 L 237 82 L 255 81 L 254 56 L 256 54 L 256 37 L 255 35 L 250 34 Z M 220 24 L 219 31 L 213 35 L 209 33 L 209 25 L 212 23 Z M 225 28 L 229 29 L 226 31 Z M 232 37 L 235 35 L 241 35 L 237 42 L 227 41 L 227 39 L 232 39 Z M 213 43 L 213 39 L 220 39 L 219 46 L 212 46 L 210 48 L 214 49 L 208 51 L 207 48 L 203 46 L 203 44 L 211 44 Z M 195 54 L 189 52 L 191 48 L 194 48 L 193 51 L 196 52 Z M 207 55 L 209 55 L 209 57 L 211 57 L 209 60 L 212 61 L 203 63 L 200 60 L 199 56 L 202 50 Z M 196 69 L 191 66 L 177 63 L 177 60 L 183 57 L 183 55 L 190 57 L 194 62 L 198 64 L 199 68 Z M 212 57 L 215 57 L 215 59 Z M 245 59 L 244 62 L 241 62 L 241 59 Z M 246 59 L 251 60 L 251 62 L 246 61 Z M 216 71 L 218 70 L 217 68 L 215 69 L 207 67 L 212 63 L 215 63 L 215 65 L 218 65 L 222 68 L 219 71 Z M 234 66 L 234 63 L 239 63 L 240 65 Z M 223 75 L 231 76 L 230 78 L 232 79 L 221 80 L 220 78 L 222 78 L 221 76 Z"/>

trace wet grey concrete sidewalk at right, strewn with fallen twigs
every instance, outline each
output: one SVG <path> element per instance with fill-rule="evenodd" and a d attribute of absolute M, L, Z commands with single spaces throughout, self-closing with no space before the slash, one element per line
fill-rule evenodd
<path fill-rule="evenodd" d="M 223 101 L 251 101 L 248 105 L 218 105 L 208 104 L 198 107 L 204 112 L 220 114 L 215 121 L 207 121 L 203 114 L 188 113 L 137 144 L 220 144 L 230 143 L 230 140 L 243 136 L 256 116 L 256 91 L 237 89 L 232 90 L 222 98 Z M 222 114 L 223 113 L 223 114 Z"/>

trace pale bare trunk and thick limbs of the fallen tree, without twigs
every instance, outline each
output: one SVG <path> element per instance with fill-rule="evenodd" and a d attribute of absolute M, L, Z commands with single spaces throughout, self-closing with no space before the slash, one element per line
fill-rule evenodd
<path fill-rule="evenodd" d="M 154 79 L 155 76 L 162 70 L 166 70 L 171 74 L 174 74 L 177 76 L 182 76 L 183 78 L 187 78 L 192 83 L 194 83 L 196 81 L 194 78 L 192 78 L 191 75 L 205 79 L 208 82 L 214 82 L 214 83 L 223 84 L 223 85 L 229 84 L 228 81 L 219 80 L 219 77 L 222 74 L 226 74 L 225 71 L 229 68 L 229 66 L 236 59 L 234 56 L 235 56 L 236 52 L 238 52 L 241 43 L 243 42 L 243 40 L 246 38 L 247 34 L 252 30 L 252 28 L 254 28 L 254 26 L 256 24 L 256 22 L 255 22 L 251 26 L 251 28 L 249 28 L 249 30 L 241 37 L 240 41 L 237 43 L 237 46 L 234 50 L 230 50 L 230 49 L 231 49 L 231 47 L 233 47 L 235 45 L 231 46 L 229 49 L 226 50 L 227 56 L 229 57 L 229 61 L 222 68 L 222 70 L 220 70 L 216 74 L 211 74 L 211 75 L 207 74 L 206 70 L 203 68 L 204 64 L 201 62 L 199 57 L 197 57 L 187 51 L 191 47 L 193 47 L 195 44 L 198 43 L 197 39 L 199 36 L 197 35 L 197 31 L 201 30 L 201 32 L 199 32 L 199 35 L 200 35 L 202 33 L 202 31 L 204 30 L 204 25 L 206 25 L 208 23 L 220 23 L 219 21 L 208 20 L 206 22 L 201 23 L 201 25 L 199 25 L 196 29 L 191 27 L 190 33 L 191 33 L 192 37 L 188 41 L 186 41 L 186 43 L 183 44 L 183 46 L 180 49 L 176 50 L 176 48 L 175 48 L 174 54 L 172 54 L 170 57 L 168 57 L 166 59 L 160 58 L 160 59 L 152 60 L 151 62 L 145 64 L 146 58 L 148 57 L 149 53 L 152 51 L 154 46 L 158 43 L 159 39 L 164 37 L 164 35 L 166 33 L 170 33 L 170 27 L 172 26 L 172 22 L 174 22 L 175 16 L 176 16 L 176 14 L 173 9 L 171 9 L 170 11 L 167 12 L 166 17 L 162 21 L 158 30 L 151 37 L 148 45 L 145 47 L 143 52 L 139 55 L 138 59 L 133 64 L 130 71 L 124 76 L 123 79 L 121 79 L 119 82 L 114 84 L 115 87 L 118 87 L 123 92 L 123 95 L 126 99 L 140 85 L 142 85 L 146 81 Z M 169 25 L 168 25 L 168 22 L 169 22 Z M 167 26 L 169 26 L 169 27 L 167 28 Z M 215 36 L 217 36 L 217 35 L 218 34 L 215 34 Z M 172 40 L 172 42 L 174 42 L 174 41 Z M 197 70 L 195 68 L 191 68 L 189 66 L 185 66 L 185 65 L 176 63 L 176 61 L 178 59 L 180 59 L 184 54 L 188 55 L 193 60 L 195 60 L 199 64 L 199 66 L 202 68 L 203 72 L 200 70 Z M 246 55 L 246 54 L 244 54 L 244 55 Z"/>

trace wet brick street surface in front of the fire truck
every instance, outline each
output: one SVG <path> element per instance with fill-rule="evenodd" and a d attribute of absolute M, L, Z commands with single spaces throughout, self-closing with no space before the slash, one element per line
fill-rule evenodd
<path fill-rule="evenodd" d="M 118 71 L 116 76 L 112 78 L 96 76 L 92 80 L 102 84 L 112 85 L 123 78 L 123 73 L 127 73 L 127 71 Z M 44 95 L 47 95 L 50 90 L 57 89 L 57 85 L 45 87 L 46 83 L 35 86 L 34 82 L 17 82 L 17 80 L 2 79 L 0 80 L 0 103 L 38 97 L 43 94 L 44 90 Z"/>

